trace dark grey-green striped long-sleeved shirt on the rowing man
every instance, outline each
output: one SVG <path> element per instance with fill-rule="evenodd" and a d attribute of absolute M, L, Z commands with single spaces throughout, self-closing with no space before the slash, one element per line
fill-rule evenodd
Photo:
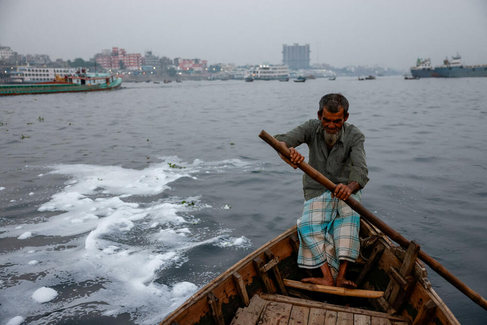
<path fill-rule="evenodd" d="M 363 188 L 369 181 L 365 162 L 365 136 L 356 126 L 345 122 L 341 136 L 328 153 L 322 130 L 318 119 L 310 119 L 288 133 L 276 134 L 274 137 L 284 141 L 288 147 L 296 148 L 306 143 L 309 147 L 308 164 L 311 167 L 335 184 L 346 185 L 356 181 Z M 310 200 L 323 194 L 326 188 L 305 173 L 303 191 L 305 200 Z"/>

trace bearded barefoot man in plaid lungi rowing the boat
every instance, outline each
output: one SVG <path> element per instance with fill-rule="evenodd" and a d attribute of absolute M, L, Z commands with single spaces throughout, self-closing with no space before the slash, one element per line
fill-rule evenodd
<path fill-rule="evenodd" d="M 305 278 L 303 282 L 356 287 L 345 279 L 345 273 L 348 262 L 355 262 L 359 253 L 360 216 L 343 201 L 352 196 L 360 202 L 360 190 L 369 178 L 365 136 L 345 122 L 349 116 L 348 107 L 345 96 L 325 95 L 319 100 L 318 119 L 310 119 L 286 134 L 275 135 L 289 148 L 293 168 L 304 160 L 295 147 L 306 143 L 309 165 L 337 184 L 332 193 L 307 174 L 303 175 L 305 202 L 298 219 L 298 265 L 319 267 L 323 273 L 322 278 Z"/>

